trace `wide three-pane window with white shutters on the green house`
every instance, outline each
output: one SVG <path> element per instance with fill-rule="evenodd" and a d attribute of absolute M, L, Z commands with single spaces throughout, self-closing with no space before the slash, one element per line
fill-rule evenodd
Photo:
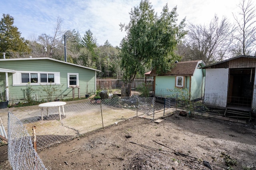
<path fill-rule="evenodd" d="M 13 86 L 60 84 L 60 72 L 18 71 L 12 74 Z"/>

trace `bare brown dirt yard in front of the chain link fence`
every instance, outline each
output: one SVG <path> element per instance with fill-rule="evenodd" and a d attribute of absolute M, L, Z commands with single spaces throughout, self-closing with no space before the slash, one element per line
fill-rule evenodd
<path fill-rule="evenodd" d="M 48 170 L 255 170 L 255 125 L 178 113 L 160 123 L 132 118 L 38 154 Z M 0 169 L 11 169 L 7 146 L 0 155 Z"/>

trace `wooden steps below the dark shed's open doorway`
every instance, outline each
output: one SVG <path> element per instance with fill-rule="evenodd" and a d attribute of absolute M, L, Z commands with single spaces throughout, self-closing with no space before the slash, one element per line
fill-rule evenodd
<path fill-rule="evenodd" d="M 252 120 L 251 117 L 251 111 L 245 111 L 245 110 L 237 110 L 237 109 L 231 109 L 231 108 L 226 108 L 225 117 L 233 117 L 233 118 L 238 118 L 238 119 L 249 119 L 249 121 Z"/>

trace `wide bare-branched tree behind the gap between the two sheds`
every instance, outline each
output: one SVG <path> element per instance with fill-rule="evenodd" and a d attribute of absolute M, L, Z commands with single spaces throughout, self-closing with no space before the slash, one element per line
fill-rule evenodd
<path fill-rule="evenodd" d="M 208 26 L 188 25 L 188 39 L 181 53 L 183 60 L 203 60 L 211 64 L 228 57 L 233 27 L 226 17 L 221 21 L 215 15 Z M 179 45 L 181 47 L 181 45 Z"/>

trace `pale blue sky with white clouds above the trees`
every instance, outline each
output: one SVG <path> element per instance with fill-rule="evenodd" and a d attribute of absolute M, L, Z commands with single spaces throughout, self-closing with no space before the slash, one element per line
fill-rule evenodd
<path fill-rule="evenodd" d="M 234 23 L 232 13 L 238 14 L 240 0 L 150 0 L 158 16 L 168 4 L 169 11 L 177 6 L 178 22 L 186 17 L 186 23 L 207 25 L 216 14 Z M 57 18 L 61 18 L 62 31 L 75 29 L 84 36 L 90 29 L 98 45 L 108 40 L 119 46 L 126 32 L 120 23 L 128 24 L 129 12 L 140 0 L 1 0 L 0 13 L 10 14 L 21 36 L 32 40 L 46 33 L 54 35 Z M 68 41 L 68 40 L 67 40 Z"/>

